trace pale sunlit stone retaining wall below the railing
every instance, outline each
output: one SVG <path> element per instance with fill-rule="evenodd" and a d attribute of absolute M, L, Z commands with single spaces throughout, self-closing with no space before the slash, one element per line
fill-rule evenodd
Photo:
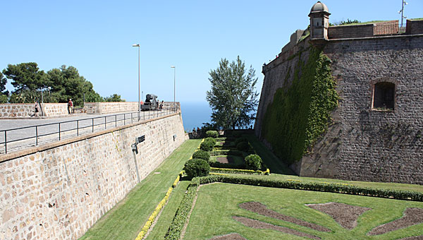
<path fill-rule="evenodd" d="M 78 239 L 184 140 L 178 113 L 0 156 L 0 239 Z"/>

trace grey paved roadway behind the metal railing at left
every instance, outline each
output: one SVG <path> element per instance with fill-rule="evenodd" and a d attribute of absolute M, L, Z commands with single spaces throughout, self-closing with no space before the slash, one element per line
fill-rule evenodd
<path fill-rule="evenodd" d="M 51 143 L 59 138 L 71 138 L 106 128 L 123 126 L 137 121 L 154 119 L 172 114 L 172 111 L 143 111 L 119 114 L 75 114 L 59 118 L 44 119 L 0 119 L 0 154 L 43 143 Z M 16 129 L 20 128 L 20 129 Z M 60 128 L 60 136 L 59 136 Z M 6 133 L 6 136 L 5 136 Z M 36 138 L 38 136 L 38 138 Z"/>

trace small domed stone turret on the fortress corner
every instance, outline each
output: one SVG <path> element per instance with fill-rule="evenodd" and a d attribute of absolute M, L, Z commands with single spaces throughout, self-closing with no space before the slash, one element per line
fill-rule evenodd
<path fill-rule="evenodd" d="M 318 1 L 309 13 L 310 17 L 310 40 L 328 40 L 329 28 L 328 7 Z"/>

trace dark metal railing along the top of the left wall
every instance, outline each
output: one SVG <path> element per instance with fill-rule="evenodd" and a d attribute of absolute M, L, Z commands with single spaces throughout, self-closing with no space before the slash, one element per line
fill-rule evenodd
<path fill-rule="evenodd" d="M 94 133 L 94 131 L 102 131 L 107 128 L 125 126 L 137 121 L 145 121 L 173 113 L 175 113 L 173 109 L 159 109 L 0 130 L 0 154 L 29 146 L 37 146 L 40 143 L 49 143 Z M 1 149 L 1 147 L 3 148 Z"/>

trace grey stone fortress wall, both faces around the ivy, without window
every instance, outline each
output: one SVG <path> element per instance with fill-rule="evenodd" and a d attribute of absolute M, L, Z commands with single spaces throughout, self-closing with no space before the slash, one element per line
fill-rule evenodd
<path fill-rule="evenodd" d="M 376 28 L 329 27 L 329 40 L 318 44 L 332 61 L 341 99 L 331 114 L 333 123 L 313 152 L 290 166 L 300 176 L 423 184 L 423 20 L 407 20 L 406 32 L 400 35 Z M 264 114 L 276 90 L 290 88 L 298 52 L 310 44 L 310 37 L 299 41 L 296 36 L 298 32 L 263 66 L 255 134 L 269 148 L 262 133 Z M 307 61 L 308 52 L 301 58 Z M 290 77 L 284 79 L 289 69 Z M 379 82 L 396 85 L 393 111 L 372 108 Z"/>

